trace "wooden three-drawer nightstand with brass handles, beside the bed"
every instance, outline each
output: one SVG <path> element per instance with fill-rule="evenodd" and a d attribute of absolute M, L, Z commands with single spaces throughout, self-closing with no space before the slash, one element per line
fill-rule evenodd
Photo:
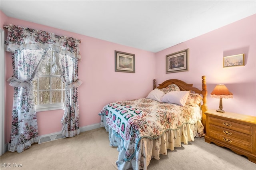
<path fill-rule="evenodd" d="M 256 117 L 215 110 L 206 115 L 205 141 L 230 148 L 256 163 Z"/>

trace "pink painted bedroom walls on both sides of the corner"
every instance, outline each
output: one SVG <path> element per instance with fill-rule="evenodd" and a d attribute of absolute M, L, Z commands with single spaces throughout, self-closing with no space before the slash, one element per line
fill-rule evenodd
<path fill-rule="evenodd" d="M 175 45 L 158 53 L 152 53 L 98 40 L 88 36 L 43 26 L 0 13 L 1 27 L 7 24 L 54 32 L 58 35 L 81 39 L 79 78 L 84 82 L 79 87 L 80 127 L 100 122 L 98 113 L 112 101 L 146 97 L 152 90 L 152 79 L 157 83 L 166 79 L 182 79 L 201 88 L 201 76 L 206 75 L 208 107 L 217 109 L 219 100 L 210 98 L 214 86 L 224 83 L 234 94 L 233 99 L 223 99 L 225 111 L 256 116 L 256 15 L 202 36 Z M 189 48 L 189 71 L 165 73 L 166 55 Z M 134 53 L 136 73 L 114 71 L 114 50 Z M 222 67 L 222 57 L 245 53 L 245 66 Z M 157 69 L 156 69 L 157 68 Z M 6 52 L 6 79 L 12 76 L 10 53 Z M 146 86 L 145 86 L 146 85 Z M 246 89 L 246 90 L 244 90 Z M 6 84 L 6 142 L 10 137 L 13 87 Z M 39 135 L 59 132 L 63 111 L 38 112 Z"/>

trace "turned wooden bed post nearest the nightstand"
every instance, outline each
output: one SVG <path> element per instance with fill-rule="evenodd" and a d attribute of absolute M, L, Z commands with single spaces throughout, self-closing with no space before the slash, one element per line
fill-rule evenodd
<path fill-rule="evenodd" d="M 203 105 L 201 106 L 202 109 L 202 124 L 204 125 L 204 132 L 206 132 L 206 115 L 204 114 L 205 111 L 208 110 L 207 107 L 207 88 L 206 88 L 206 76 L 202 76 L 202 95 L 203 95 Z"/>

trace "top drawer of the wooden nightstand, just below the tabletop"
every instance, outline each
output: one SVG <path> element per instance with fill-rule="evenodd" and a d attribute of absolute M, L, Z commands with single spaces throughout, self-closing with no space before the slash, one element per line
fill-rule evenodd
<path fill-rule="evenodd" d="M 228 128 L 231 130 L 235 130 L 237 132 L 242 132 L 242 133 L 250 134 L 250 135 L 252 134 L 252 127 L 248 126 L 248 125 L 234 123 L 232 121 L 225 121 L 222 119 L 217 119 L 215 117 L 209 117 L 208 123 L 212 124 L 212 125 L 219 126 L 219 127 L 224 127 L 224 128 Z"/>

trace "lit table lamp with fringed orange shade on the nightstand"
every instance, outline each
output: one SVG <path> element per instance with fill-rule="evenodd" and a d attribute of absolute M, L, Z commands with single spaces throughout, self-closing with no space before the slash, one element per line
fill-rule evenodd
<path fill-rule="evenodd" d="M 219 106 L 219 109 L 216 110 L 216 112 L 224 113 L 225 111 L 223 110 L 223 107 L 222 107 L 222 98 L 224 99 L 233 98 L 233 93 L 231 93 L 225 85 L 219 84 L 219 85 L 216 85 L 215 88 L 213 89 L 211 93 L 211 97 L 220 99 L 220 106 Z"/>

